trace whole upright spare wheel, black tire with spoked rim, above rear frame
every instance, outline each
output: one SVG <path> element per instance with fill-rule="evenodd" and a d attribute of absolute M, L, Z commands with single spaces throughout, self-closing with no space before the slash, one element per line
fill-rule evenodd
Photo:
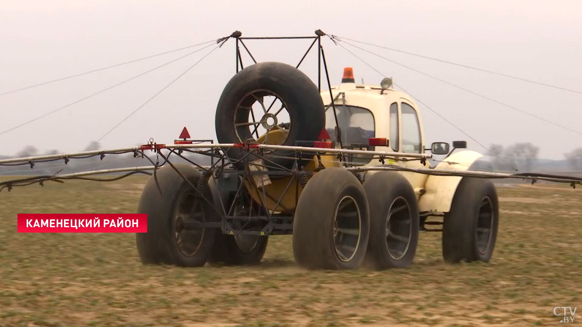
<path fill-rule="evenodd" d="M 272 108 L 264 104 L 264 97 L 276 97 L 281 101 L 281 108 Z M 218 101 L 215 125 L 219 143 L 256 143 L 249 125 L 249 113 L 255 102 L 262 106 L 262 117 L 255 117 L 266 130 L 281 129 L 277 116 L 283 109 L 289 115 L 290 125 L 285 128 L 286 139 L 277 144 L 297 145 L 296 141 L 315 141 L 325 127 L 325 111 L 317 86 L 299 69 L 281 62 L 260 62 L 240 70 L 226 84 Z M 253 130 L 251 130 L 251 128 Z M 283 129 L 281 129 L 283 130 Z M 268 141 L 265 141 L 268 144 Z M 244 157 L 246 152 L 237 148 L 228 150 L 233 161 Z M 291 168 L 294 151 L 278 150 L 273 155 L 265 155 L 278 165 Z M 256 158 L 251 156 L 249 160 Z M 272 163 L 265 162 L 267 165 Z M 242 167 L 241 162 L 237 166 Z"/>

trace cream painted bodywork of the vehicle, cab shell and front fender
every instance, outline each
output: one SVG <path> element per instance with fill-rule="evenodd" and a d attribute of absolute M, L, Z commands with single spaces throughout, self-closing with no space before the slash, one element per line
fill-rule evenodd
<path fill-rule="evenodd" d="M 374 88 L 372 88 L 374 87 Z M 375 137 L 385 137 L 389 140 L 390 138 L 390 105 L 394 102 L 398 103 L 399 107 L 399 149 L 402 149 L 402 119 L 400 113 L 400 103 L 406 102 L 409 104 L 417 113 L 418 124 L 420 127 L 420 138 L 421 147 L 424 149 L 424 132 L 423 132 L 423 122 L 421 119 L 420 111 L 418 106 L 411 99 L 411 97 L 400 91 L 392 90 L 389 88 L 384 91 L 384 94 L 380 94 L 380 90 L 375 89 L 377 86 L 358 86 L 354 83 L 344 83 L 340 84 L 338 87 L 332 87 L 331 97 L 329 91 L 322 91 L 321 98 L 325 105 L 331 104 L 332 98 L 336 96 L 339 97 L 335 100 L 335 105 L 353 105 L 366 108 L 372 112 L 374 115 L 374 125 L 375 125 Z M 343 93 L 343 95 L 342 95 Z M 330 106 L 327 110 L 333 110 Z M 338 145 L 339 147 L 339 145 Z M 375 147 L 377 151 L 393 151 L 391 147 Z M 478 158 L 482 157 L 474 151 L 460 151 L 455 154 L 450 155 L 444 162 L 437 165 L 437 168 L 442 169 L 456 169 L 456 170 L 467 170 L 469 166 Z M 457 163 L 458 162 L 458 163 Z M 399 165 L 409 168 L 427 168 L 420 161 L 395 161 L 393 159 L 386 159 L 386 162 L 391 165 Z M 376 166 L 382 165 L 381 162 L 373 160 L 365 166 Z M 377 172 L 367 172 L 365 178 L 369 178 Z M 459 184 L 462 177 L 457 176 L 429 176 L 420 173 L 413 172 L 399 172 L 409 181 L 414 189 L 418 199 L 419 211 L 432 211 L 432 212 L 448 212 L 450 210 L 450 205 L 455 196 L 455 190 Z"/>

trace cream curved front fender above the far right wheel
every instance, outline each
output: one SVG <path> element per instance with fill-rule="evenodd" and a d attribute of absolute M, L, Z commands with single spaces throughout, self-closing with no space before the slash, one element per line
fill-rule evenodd
<path fill-rule="evenodd" d="M 483 157 L 475 151 L 459 151 L 439 163 L 435 169 L 469 170 L 477 159 Z M 424 194 L 418 199 L 418 211 L 449 212 L 457 186 L 463 177 L 428 176 Z"/>

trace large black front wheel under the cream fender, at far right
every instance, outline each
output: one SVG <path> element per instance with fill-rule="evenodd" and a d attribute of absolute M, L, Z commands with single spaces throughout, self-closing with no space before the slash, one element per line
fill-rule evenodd
<path fill-rule="evenodd" d="M 494 184 L 463 177 L 443 222 L 443 259 L 449 263 L 488 262 L 495 247 L 498 222 L 499 203 Z"/>

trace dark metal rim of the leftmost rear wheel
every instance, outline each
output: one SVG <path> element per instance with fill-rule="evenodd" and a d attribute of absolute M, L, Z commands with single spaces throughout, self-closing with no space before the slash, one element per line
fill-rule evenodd
<path fill-rule="evenodd" d="M 174 240 L 180 253 L 192 257 L 198 252 L 204 239 L 205 229 L 186 228 L 187 222 L 204 222 L 203 200 L 191 191 L 180 196 L 174 214 Z"/>

